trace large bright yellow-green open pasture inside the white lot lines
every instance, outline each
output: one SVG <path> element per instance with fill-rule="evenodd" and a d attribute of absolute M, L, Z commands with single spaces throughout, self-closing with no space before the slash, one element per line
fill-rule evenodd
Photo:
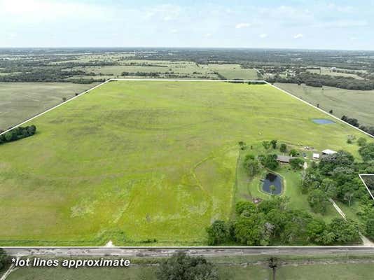
<path fill-rule="evenodd" d="M 200 245 L 229 218 L 238 141 L 357 154 L 361 132 L 271 87 L 116 81 L 0 146 L 0 245 Z"/>

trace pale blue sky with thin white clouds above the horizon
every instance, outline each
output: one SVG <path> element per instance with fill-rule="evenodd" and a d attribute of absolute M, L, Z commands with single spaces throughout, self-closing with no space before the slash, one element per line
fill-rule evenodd
<path fill-rule="evenodd" d="M 369 1 L 0 0 L 0 47 L 374 50 Z"/>

